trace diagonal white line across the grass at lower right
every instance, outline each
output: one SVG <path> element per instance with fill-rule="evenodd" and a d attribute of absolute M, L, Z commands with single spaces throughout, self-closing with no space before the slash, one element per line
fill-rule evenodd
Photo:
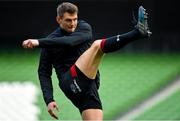
<path fill-rule="evenodd" d="M 130 112 L 125 114 L 124 116 L 117 119 L 117 121 L 123 120 L 123 121 L 130 121 L 133 118 L 139 116 L 146 110 L 150 109 L 152 106 L 162 102 L 169 96 L 171 96 L 173 93 L 175 93 L 177 90 L 180 90 L 180 78 L 177 81 L 174 81 L 172 84 L 170 84 L 165 89 L 161 90 L 154 96 L 150 97 L 150 99 L 144 101 L 142 104 L 140 104 L 138 107 L 132 109 Z"/>

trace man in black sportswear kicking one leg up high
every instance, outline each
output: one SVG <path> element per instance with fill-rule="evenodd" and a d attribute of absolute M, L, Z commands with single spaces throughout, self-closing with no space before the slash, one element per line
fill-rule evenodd
<path fill-rule="evenodd" d="M 135 29 L 123 35 L 92 40 L 91 26 L 78 21 L 78 8 L 68 2 L 57 8 L 58 29 L 47 38 L 28 39 L 24 48 L 40 47 L 39 79 L 44 100 L 50 115 L 58 119 L 58 110 L 53 98 L 52 68 L 55 68 L 59 86 L 64 94 L 79 109 L 83 120 L 103 120 L 102 104 L 99 98 L 98 66 L 104 53 L 114 52 L 128 43 L 149 37 L 147 13 L 139 7 Z"/>

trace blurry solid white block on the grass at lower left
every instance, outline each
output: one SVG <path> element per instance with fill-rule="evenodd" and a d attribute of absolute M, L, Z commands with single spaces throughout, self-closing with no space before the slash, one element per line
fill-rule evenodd
<path fill-rule="evenodd" d="M 33 83 L 0 83 L 0 121 L 38 121 L 37 96 Z"/>

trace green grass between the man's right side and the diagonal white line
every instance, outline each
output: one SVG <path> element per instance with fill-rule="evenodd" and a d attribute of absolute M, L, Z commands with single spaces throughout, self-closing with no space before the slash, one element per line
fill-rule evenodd
<path fill-rule="evenodd" d="M 101 65 L 105 119 L 140 103 L 179 74 L 179 55 L 111 54 Z"/>

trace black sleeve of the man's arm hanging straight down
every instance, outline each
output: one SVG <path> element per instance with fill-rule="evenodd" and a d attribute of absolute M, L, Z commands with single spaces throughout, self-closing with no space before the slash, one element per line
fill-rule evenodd
<path fill-rule="evenodd" d="M 41 89 L 43 92 L 43 98 L 48 105 L 53 99 L 53 86 L 52 86 L 52 63 L 50 56 L 46 49 L 41 50 L 38 76 L 40 80 Z"/>

